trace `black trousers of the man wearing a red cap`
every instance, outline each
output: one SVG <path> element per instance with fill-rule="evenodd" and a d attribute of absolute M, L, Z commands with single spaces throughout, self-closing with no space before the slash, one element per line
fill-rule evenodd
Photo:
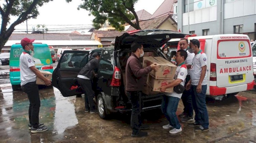
<path fill-rule="evenodd" d="M 36 85 L 35 82 L 29 82 L 29 83 L 21 86 L 21 88 L 25 93 L 28 94 L 28 99 L 29 99 L 29 108 L 28 108 L 29 124 L 32 125 L 33 128 L 38 128 L 39 110 L 40 110 L 40 106 L 41 106 L 38 85 Z"/>

